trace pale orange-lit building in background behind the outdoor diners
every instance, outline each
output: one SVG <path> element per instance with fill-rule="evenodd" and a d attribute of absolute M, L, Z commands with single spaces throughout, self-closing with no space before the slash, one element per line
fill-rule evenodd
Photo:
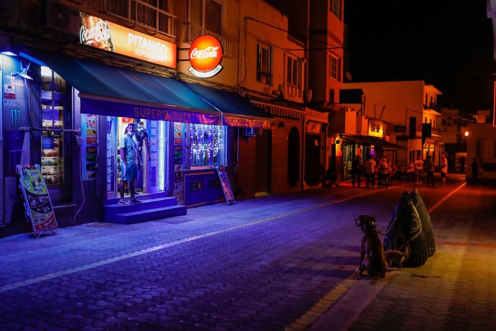
<path fill-rule="evenodd" d="M 385 141 L 402 148 L 396 155 L 388 155 L 398 167 L 407 167 L 417 156 L 426 159 L 432 155 L 437 166 L 444 152 L 441 141 L 437 96 L 441 92 L 424 81 L 388 81 L 345 83 L 344 89 L 363 91 L 361 104 L 349 104 L 359 110 L 361 120 L 357 125 L 366 130 L 383 126 L 382 132 L 374 132 Z"/>

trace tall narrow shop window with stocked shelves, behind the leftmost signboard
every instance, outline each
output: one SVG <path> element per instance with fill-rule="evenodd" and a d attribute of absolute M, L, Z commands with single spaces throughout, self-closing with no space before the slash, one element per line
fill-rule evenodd
<path fill-rule="evenodd" d="M 41 171 L 49 186 L 63 184 L 63 132 L 65 80 L 46 66 L 41 67 Z"/>

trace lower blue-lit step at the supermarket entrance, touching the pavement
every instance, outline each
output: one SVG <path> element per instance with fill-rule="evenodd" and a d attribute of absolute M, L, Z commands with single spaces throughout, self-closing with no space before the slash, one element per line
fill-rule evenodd
<path fill-rule="evenodd" d="M 109 221 L 119 224 L 134 224 L 182 215 L 186 215 L 186 206 L 174 205 L 116 214 L 114 215 L 114 217 L 112 217 L 112 220 Z"/>

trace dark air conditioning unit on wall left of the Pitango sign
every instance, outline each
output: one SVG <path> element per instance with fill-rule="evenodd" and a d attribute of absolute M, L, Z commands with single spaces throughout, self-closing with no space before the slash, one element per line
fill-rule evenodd
<path fill-rule="evenodd" d="M 47 0 L 42 2 L 40 11 L 42 26 L 77 36 L 79 34 L 79 12 L 60 2 Z"/>

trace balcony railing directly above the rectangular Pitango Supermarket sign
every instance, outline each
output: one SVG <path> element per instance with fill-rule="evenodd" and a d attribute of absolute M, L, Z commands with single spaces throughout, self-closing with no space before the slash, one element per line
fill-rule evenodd
<path fill-rule="evenodd" d="M 176 16 L 140 0 L 104 0 L 106 14 L 176 38 Z"/>

